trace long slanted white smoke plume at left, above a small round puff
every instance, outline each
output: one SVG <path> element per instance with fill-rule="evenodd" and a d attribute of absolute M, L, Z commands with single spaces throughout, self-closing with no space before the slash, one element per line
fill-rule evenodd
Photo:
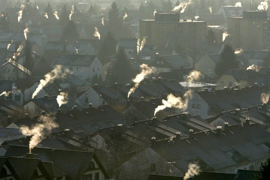
<path fill-rule="evenodd" d="M 50 72 L 46 73 L 44 75 L 44 79 L 41 79 L 39 81 L 38 86 L 36 87 L 35 91 L 32 94 L 32 98 L 34 98 L 37 93 L 47 84 L 47 83 L 52 83 L 55 79 L 58 78 L 65 78 L 66 75 L 69 73 L 68 69 L 62 70 L 61 65 L 56 65 L 53 70 Z"/>

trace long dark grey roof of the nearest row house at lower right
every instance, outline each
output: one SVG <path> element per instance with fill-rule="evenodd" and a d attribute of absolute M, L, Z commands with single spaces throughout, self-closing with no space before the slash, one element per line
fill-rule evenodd
<path fill-rule="evenodd" d="M 212 131 L 195 133 L 193 137 L 157 141 L 151 148 L 185 172 L 188 163 L 198 161 L 201 170 L 221 170 L 243 161 L 268 157 L 268 150 L 261 147 L 270 142 L 269 132 L 259 124 L 244 127 L 230 126 L 218 136 Z M 173 157 L 173 159 L 171 159 Z"/>

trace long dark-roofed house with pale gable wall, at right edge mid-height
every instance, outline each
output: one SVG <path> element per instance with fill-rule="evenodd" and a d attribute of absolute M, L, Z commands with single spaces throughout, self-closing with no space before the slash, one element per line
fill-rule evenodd
<path fill-rule="evenodd" d="M 259 105 L 262 92 L 268 92 L 267 87 L 246 87 L 242 89 L 223 89 L 215 91 L 196 91 L 188 102 L 190 114 L 197 114 L 206 119 L 222 111 L 236 108 L 248 108 Z"/>

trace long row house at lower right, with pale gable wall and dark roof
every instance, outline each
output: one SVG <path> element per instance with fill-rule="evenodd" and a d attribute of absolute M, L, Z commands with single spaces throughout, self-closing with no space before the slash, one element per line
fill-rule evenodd
<path fill-rule="evenodd" d="M 125 173 L 132 173 L 135 164 L 142 164 L 135 168 L 138 175 L 170 172 L 174 176 L 183 176 L 189 163 L 197 163 L 201 171 L 220 173 L 259 170 L 260 162 L 268 158 L 270 141 L 269 132 L 256 123 L 197 133 L 190 131 L 188 137 L 151 139 L 150 146 L 136 150 L 121 164 L 127 169 Z"/>

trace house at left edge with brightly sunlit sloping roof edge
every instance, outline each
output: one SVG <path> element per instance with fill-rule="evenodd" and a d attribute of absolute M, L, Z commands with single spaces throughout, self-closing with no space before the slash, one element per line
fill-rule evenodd
<path fill-rule="evenodd" d="M 32 72 L 29 69 L 11 58 L 0 66 L 0 78 L 4 80 L 27 78 L 31 74 Z"/>

